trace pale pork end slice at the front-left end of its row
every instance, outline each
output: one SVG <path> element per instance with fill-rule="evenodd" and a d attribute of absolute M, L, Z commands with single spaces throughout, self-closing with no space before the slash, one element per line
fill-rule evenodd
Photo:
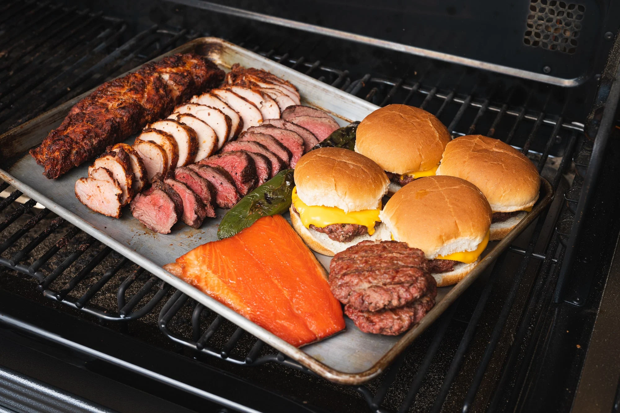
<path fill-rule="evenodd" d="M 123 191 L 118 181 L 106 168 L 95 168 L 93 175 L 76 181 L 76 198 L 92 211 L 108 217 L 120 217 Z"/>

